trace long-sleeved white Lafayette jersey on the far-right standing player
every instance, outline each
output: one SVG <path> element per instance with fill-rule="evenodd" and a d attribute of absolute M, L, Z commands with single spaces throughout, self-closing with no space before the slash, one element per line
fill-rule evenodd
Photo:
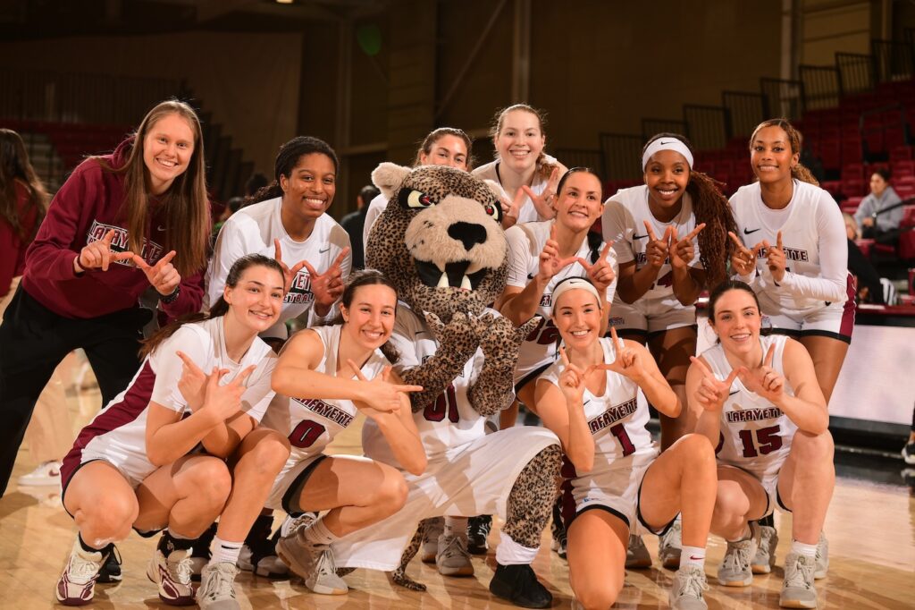
<path fill-rule="evenodd" d="M 734 220 L 737 221 L 737 231 L 740 239 L 748 247 L 753 247 L 763 240 L 770 245 L 776 245 L 778 234 L 781 232 L 781 243 L 785 251 L 785 269 L 791 273 L 807 278 L 822 278 L 823 254 L 821 249 L 834 247 L 841 250 L 835 253 L 837 265 L 845 267 L 836 271 L 836 278 L 840 284 L 845 283 L 847 275 L 848 246 L 845 241 L 845 223 L 842 220 L 842 211 L 835 204 L 832 196 L 823 189 L 794 180 L 794 191 L 791 202 L 783 214 L 770 211 L 762 201 L 759 182 L 740 187 L 731 197 L 731 208 L 734 211 Z M 776 218 L 780 218 L 779 223 Z M 831 229 L 831 230 L 828 230 Z M 836 235 L 831 238 L 827 246 L 824 238 L 829 234 Z M 758 290 L 759 305 L 763 313 L 769 315 L 803 315 L 812 310 L 823 309 L 827 302 L 809 297 L 791 294 L 788 290 L 779 289 L 771 281 L 768 267 L 767 252 L 759 248 L 756 259 L 758 277 L 770 278 L 764 287 Z M 847 297 L 839 297 L 835 301 L 844 303 Z"/>

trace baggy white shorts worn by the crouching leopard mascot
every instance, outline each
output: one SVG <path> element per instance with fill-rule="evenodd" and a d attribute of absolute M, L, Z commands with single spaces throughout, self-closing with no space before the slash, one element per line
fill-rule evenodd
<path fill-rule="evenodd" d="M 558 443 L 549 430 L 519 426 L 451 447 L 430 459 L 424 474 L 404 473 L 409 488 L 404 507 L 334 542 L 337 566 L 392 571 L 417 524 L 428 517 L 505 517 L 511 487 L 524 466 Z"/>

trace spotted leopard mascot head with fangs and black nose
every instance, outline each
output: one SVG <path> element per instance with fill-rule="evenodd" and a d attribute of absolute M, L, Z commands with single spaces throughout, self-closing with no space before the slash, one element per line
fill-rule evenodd
<path fill-rule="evenodd" d="M 459 169 L 382 163 L 372 181 L 388 205 L 371 228 L 366 265 L 382 271 L 414 311 L 447 322 L 479 315 L 505 288 L 508 244 L 501 205 Z"/>

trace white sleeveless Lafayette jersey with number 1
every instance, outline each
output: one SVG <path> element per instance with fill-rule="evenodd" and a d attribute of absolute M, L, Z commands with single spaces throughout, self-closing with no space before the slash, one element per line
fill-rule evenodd
<path fill-rule="evenodd" d="M 600 346 L 604 350 L 604 362 L 613 362 L 617 357 L 613 340 L 602 338 Z M 563 368 L 561 362 L 556 362 L 546 369 L 541 379 L 559 387 Z M 628 468 L 630 461 L 623 458 L 655 451 L 651 432 L 645 428 L 649 419 L 648 406 L 644 402 L 639 405 L 638 393 L 638 384 L 613 371 L 607 371 L 607 389 L 603 396 L 594 396 L 585 389 L 582 404 L 588 428 L 594 435 L 592 472 Z"/>

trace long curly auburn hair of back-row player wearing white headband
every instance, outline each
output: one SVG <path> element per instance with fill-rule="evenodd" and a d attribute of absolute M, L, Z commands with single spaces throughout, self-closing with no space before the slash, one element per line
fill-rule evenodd
<path fill-rule="evenodd" d="M 642 148 L 642 154 L 651 142 L 659 137 L 673 137 L 684 143 L 693 152 L 693 146 L 685 136 L 662 133 L 651 136 Z M 686 192 L 693 200 L 695 223 L 705 223 L 697 236 L 699 260 L 705 268 L 705 286 L 716 286 L 727 279 L 727 261 L 734 253 L 734 244 L 727 238 L 727 232 L 737 232 L 737 221 L 727 197 L 722 194 L 725 185 L 701 171 L 690 168 Z"/>

